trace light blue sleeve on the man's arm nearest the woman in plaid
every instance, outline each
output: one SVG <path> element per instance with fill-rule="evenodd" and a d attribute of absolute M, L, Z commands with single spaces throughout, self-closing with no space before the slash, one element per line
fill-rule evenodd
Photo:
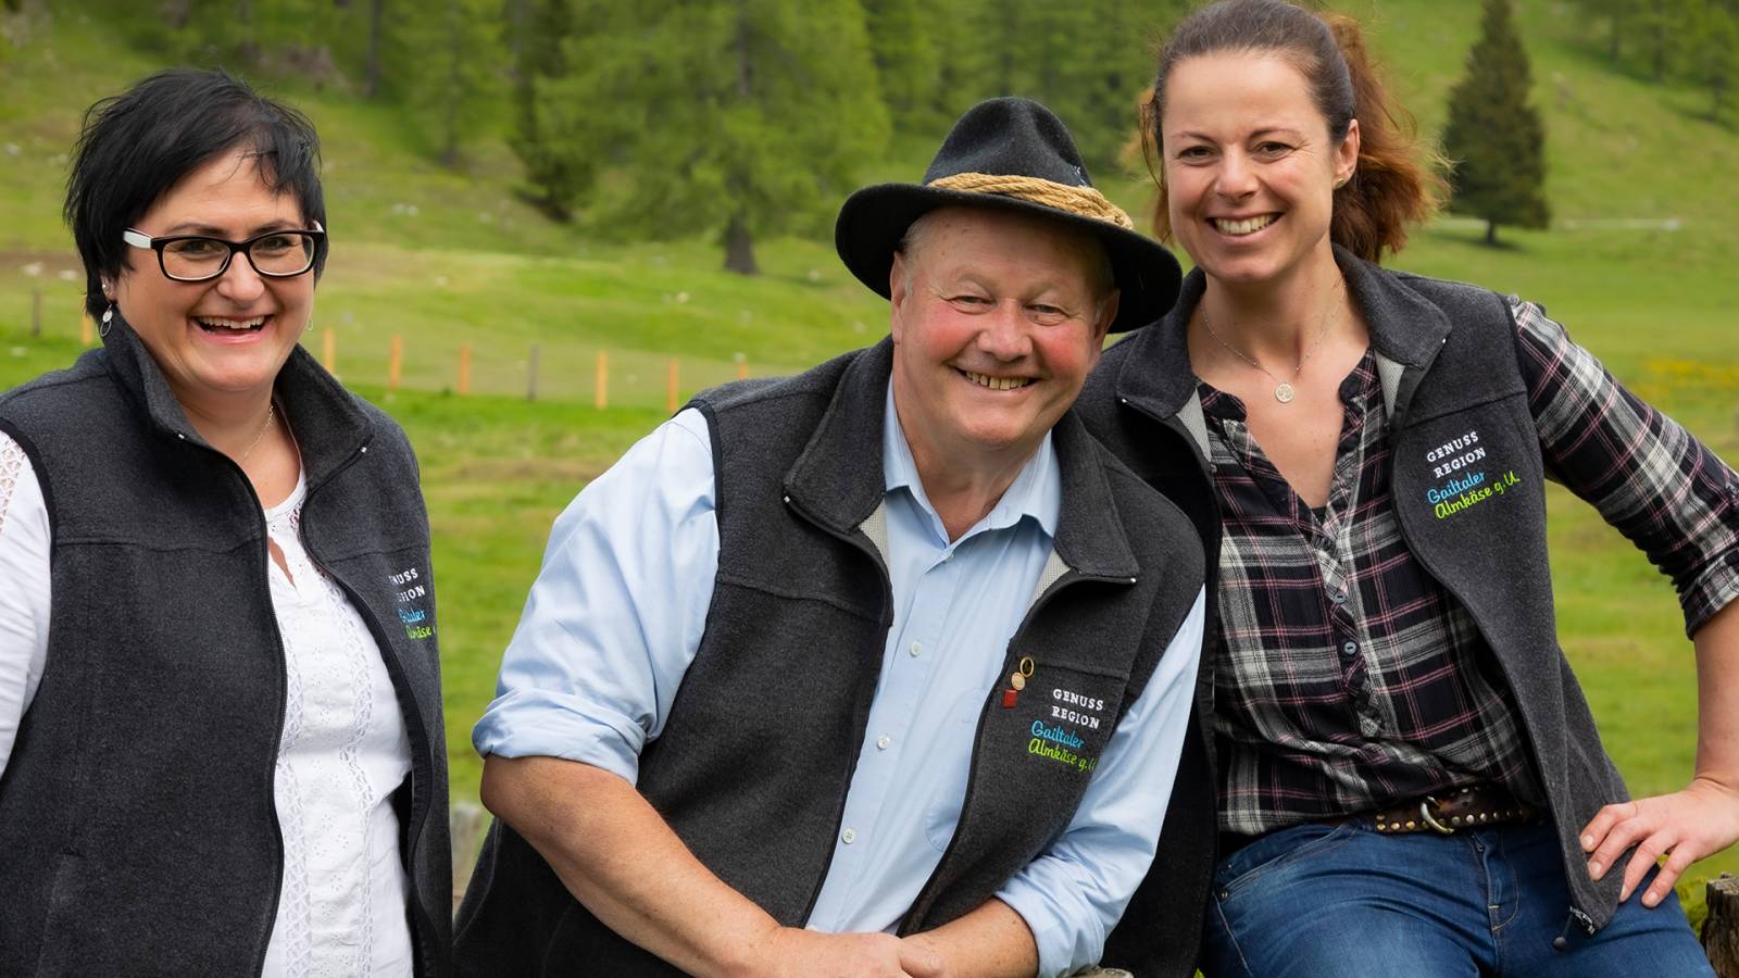
<path fill-rule="evenodd" d="M 1111 734 L 1069 827 L 996 893 L 1033 931 L 1042 976 L 1096 964 L 1153 865 L 1189 722 L 1205 609 L 1203 590 Z"/>

